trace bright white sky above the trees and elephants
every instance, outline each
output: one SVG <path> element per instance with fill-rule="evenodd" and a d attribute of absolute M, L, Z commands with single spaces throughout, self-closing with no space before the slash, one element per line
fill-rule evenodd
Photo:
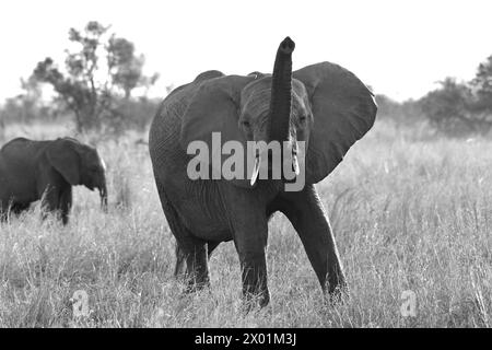
<path fill-rule="evenodd" d="M 15 0 L 0 5 L 0 101 L 51 56 L 63 62 L 68 30 L 112 24 L 147 57 L 165 86 L 199 72 L 270 72 L 279 43 L 296 43 L 294 69 L 328 60 L 376 93 L 420 97 L 446 75 L 469 80 L 492 55 L 490 0 Z"/>

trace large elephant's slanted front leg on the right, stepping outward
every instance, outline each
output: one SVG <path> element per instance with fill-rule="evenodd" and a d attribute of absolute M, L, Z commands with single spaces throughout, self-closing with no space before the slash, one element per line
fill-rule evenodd
<path fill-rule="evenodd" d="M 324 292 L 338 298 L 345 288 L 345 279 L 328 217 L 314 185 L 298 192 L 285 192 L 283 197 L 286 202 L 281 211 L 297 231 Z"/>

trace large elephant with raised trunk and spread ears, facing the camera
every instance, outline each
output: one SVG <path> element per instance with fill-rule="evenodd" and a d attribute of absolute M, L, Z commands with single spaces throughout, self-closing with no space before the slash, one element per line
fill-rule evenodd
<path fill-rule="evenodd" d="M 243 294 L 246 300 L 256 295 L 266 305 L 268 220 L 280 211 L 300 235 L 323 291 L 333 296 L 344 290 L 333 233 L 314 184 L 371 129 L 377 106 L 371 91 L 340 66 L 321 62 L 292 72 L 294 47 L 289 37 L 280 44 L 272 74 L 199 74 L 163 101 L 152 122 L 149 148 L 162 207 L 177 243 L 175 271 L 186 261 L 190 289 L 209 283 L 208 257 L 221 242 L 233 240 Z M 283 175 L 256 180 L 258 160 L 265 159 L 259 153 L 248 155 L 256 162 L 246 177 L 190 179 L 187 148 L 200 141 L 212 149 L 212 132 L 220 132 L 223 142 L 286 142 L 290 151 L 283 152 L 282 162 L 292 162 L 296 174 L 302 155 L 297 144 L 304 141 L 305 186 L 286 191 Z M 211 168 L 216 167 L 213 162 Z M 271 174 L 271 163 L 267 165 Z"/>

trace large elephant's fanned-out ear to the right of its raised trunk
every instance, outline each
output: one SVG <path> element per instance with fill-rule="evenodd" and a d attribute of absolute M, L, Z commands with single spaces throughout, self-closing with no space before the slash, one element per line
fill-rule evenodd
<path fill-rule="evenodd" d="M 293 77 L 306 86 L 314 116 L 306 182 L 315 184 L 328 176 L 350 147 L 371 129 L 377 105 L 367 86 L 338 65 L 307 66 Z"/>

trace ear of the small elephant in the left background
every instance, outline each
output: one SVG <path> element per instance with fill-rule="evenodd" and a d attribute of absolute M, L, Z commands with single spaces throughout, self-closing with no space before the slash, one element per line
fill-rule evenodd
<path fill-rule="evenodd" d="M 47 148 L 46 156 L 52 167 L 70 185 L 80 184 L 80 156 L 70 139 L 58 139 Z"/>

